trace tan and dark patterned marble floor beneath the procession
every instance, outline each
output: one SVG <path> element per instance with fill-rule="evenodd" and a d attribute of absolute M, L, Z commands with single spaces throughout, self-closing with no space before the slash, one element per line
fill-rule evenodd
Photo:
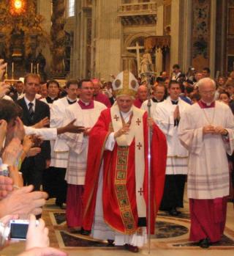
<path fill-rule="evenodd" d="M 197 244 L 190 243 L 189 209 L 185 200 L 182 214 L 179 218 L 159 212 L 156 222 L 156 234 L 151 238 L 151 255 L 155 256 L 233 256 L 234 255 L 234 210 L 233 203 L 228 203 L 227 224 L 222 241 L 209 249 L 201 249 Z M 60 248 L 70 256 L 105 256 L 132 255 L 122 247 L 107 247 L 105 241 L 95 241 L 83 235 L 69 233 L 65 222 L 64 211 L 54 205 L 54 200 L 48 200 L 43 209 L 42 218 L 50 230 L 50 246 Z M 12 244 L 1 251 L 0 255 L 18 255 L 23 251 L 23 242 Z M 148 255 L 147 245 L 137 255 Z"/>

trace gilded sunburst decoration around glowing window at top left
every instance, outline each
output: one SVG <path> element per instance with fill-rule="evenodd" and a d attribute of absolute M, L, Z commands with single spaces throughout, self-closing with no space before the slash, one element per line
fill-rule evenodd
<path fill-rule="evenodd" d="M 32 40 L 36 39 L 41 47 L 50 43 L 49 35 L 41 27 L 42 15 L 37 15 L 36 0 L 1 0 L 0 16 L 0 34 L 4 36 L 2 42 L 4 42 L 4 54 L 7 59 L 11 58 L 12 34 L 23 34 L 25 59 L 32 54 Z"/>

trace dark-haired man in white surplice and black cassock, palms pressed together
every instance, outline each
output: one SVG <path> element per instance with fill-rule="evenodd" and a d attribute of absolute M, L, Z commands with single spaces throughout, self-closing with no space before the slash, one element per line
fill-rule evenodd
<path fill-rule="evenodd" d="M 165 189 L 160 209 L 168 211 L 171 216 L 184 207 L 184 184 L 188 167 L 188 151 L 178 139 L 178 123 L 189 104 L 179 98 L 180 84 L 171 81 L 168 88 L 169 97 L 156 105 L 153 118 L 167 137 L 167 168 Z"/>

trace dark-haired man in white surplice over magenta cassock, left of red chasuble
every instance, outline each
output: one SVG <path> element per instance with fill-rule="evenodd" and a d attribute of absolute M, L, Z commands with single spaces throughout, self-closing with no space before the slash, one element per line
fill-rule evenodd
<path fill-rule="evenodd" d="M 99 117 L 106 109 L 103 103 L 93 100 L 94 86 L 90 80 L 79 82 L 80 99 L 67 107 L 65 124 L 75 120 L 75 125 L 84 127 L 82 134 L 64 134 L 69 147 L 69 158 L 66 172 L 67 180 L 67 226 L 81 226 L 83 216 L 82 195 L 86 177 L 86 161 L 88 153 L 88 134 Z"/>

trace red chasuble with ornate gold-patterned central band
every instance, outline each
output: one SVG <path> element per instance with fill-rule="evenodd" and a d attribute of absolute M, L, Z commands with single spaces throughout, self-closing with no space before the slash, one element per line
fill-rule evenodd
<path fill-rule="evenodd" d="M 83 194 L 83 228 L 91 230 L 97 198 L 99 169 L 103 162 L 103 216 L 105 222 L 120 233 L 135 233 L 138 227 L 135 192 L 135 139 L 129 147 L 115 145 L 113 151 L 104 150 L 112 130 L 110 109 L 102 111 L 91 130 L 88 145 L 88 165 Z M 145 143 L 145 178 L 139 193 L 148 203 L 148 126 L 143 115 Z M 151 142 L 151 233 L 154 233 L 156 213 L 162 199 L 167 161 L 167 142 L 162 131 L 154 125 Z M 121 172 L 117 170 L 121 169 Z M 121 175 L 119 175 L 121 173 Z M 147 207 L 148 209 L 148 207 Z"/>

